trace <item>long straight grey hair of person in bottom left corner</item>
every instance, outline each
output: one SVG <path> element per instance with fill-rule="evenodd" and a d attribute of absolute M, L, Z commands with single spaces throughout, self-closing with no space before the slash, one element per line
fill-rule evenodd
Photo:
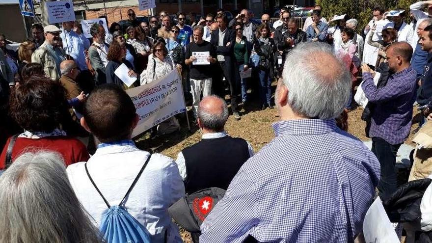
<path fill-rule="evenodd" d="M 0 176 L 0 242 L 101 242 L 69 184 L 61 155 L 18 157 Z"/>

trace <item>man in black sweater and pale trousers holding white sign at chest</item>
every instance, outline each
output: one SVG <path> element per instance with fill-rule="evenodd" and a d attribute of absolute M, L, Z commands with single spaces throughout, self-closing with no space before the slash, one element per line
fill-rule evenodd
<path fill-rule="evenodd" d="M 190 65 L 190 89 L 192 109 L 196 117 L 201 92 L 203 97 L 212 93 L 212 66 L 216 63 L 216 50 L 210 42 L 203 40 L 204 28 L 193 27 L 193 42 L 186 47 L 186 65 Z"/>

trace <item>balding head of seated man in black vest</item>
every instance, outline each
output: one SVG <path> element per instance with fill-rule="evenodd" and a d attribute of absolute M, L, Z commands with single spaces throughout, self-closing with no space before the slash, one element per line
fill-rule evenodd
<path fill-rule="evenodd" d="M 221 132 L 228 120 L 228 107 L 224 100 L 216 95 L 206 96 L 198 106 L 198 125 L 206 132 Z"/>

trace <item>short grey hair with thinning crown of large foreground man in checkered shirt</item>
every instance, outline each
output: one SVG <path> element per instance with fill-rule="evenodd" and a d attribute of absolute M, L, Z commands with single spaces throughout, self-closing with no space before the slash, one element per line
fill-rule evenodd
<path fill-rule="evenodd" d="M 351 75 L 336 58 L 330 45 L 305 42 L 286 56 L 283 83 L 288 88 L 288 104 L 293 111 L 308 118 L 338 117 L 350 99 Z M 323 58 L 334 58 L 326 69 Z"/>

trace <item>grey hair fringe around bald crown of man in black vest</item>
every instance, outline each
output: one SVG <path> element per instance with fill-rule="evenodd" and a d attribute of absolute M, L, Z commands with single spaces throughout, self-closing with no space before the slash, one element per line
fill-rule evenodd
<path fill-rule="evenodd" d="M 221 101 L 222 113 L 218 113 L 218 114 L 212 113 L 206 108 L 203 108 L 200 103 L 198 105 L 197 117 L 199 118 L 201 125 L 205 129 L 214 132 L 220 132 L 223 131 L 225 127 L 225 123 L 228 120 L 228 116 L 229 116 L 228 106 L 226 105 L 226 102 L 219 96 L 211 95 L 210 97 L 216 98 Z"/>

